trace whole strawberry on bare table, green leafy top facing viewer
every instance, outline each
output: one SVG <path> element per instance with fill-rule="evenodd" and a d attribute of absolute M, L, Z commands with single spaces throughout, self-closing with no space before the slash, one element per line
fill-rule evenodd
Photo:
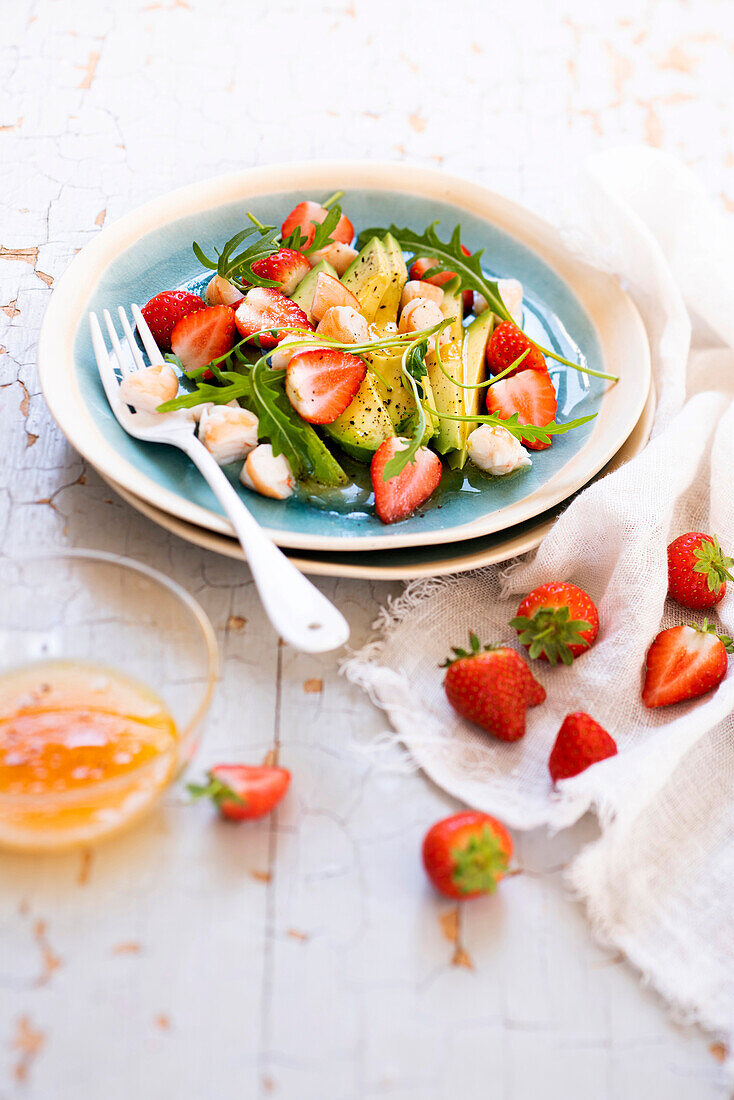
<path fill-rule="evenodd" d="M 436 822 L 423 842 L 426 873 L 447 898 L 494 893 L 512 854 L 512 837 L 502 822 L 476 810 Z"/>

